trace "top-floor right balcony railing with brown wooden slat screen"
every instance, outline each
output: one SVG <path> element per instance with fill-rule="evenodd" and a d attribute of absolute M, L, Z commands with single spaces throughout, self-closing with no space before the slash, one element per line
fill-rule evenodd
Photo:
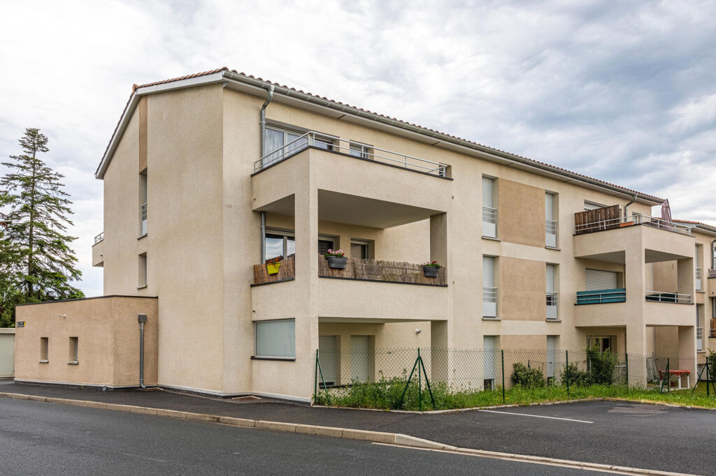
<path fill-rule="evenodd" d="M 644 225 L 667 232 L 691 235 L 690 227 L 647 215 L 619 217 L 619 206 L 604 207 L 574 214 L 574 234 L 601 232 L 606 229 Z"/>

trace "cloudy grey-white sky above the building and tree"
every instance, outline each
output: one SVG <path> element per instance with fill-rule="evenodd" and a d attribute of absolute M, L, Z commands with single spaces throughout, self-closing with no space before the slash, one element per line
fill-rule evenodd
<path fill-rule="evenodd" d="M 88 296 L 102 294 L 94 173 L 132 84 L 221 66 L 716 225 L 715 45 L 706 1 L 0 0 L 0 159 L 26 127 L 49 137 Z"/>

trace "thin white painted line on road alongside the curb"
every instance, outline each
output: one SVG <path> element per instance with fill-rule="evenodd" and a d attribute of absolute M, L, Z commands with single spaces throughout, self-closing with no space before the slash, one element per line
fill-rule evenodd
<path fill-rule="evenodd" d="M 551 458 L 551 457 L 518 455 L 515 453 L 473 450 L 470 448 L 458 448 L 457 450 L 437 450 L 435 448 L 421 448 L 421 447 L 417 447 L 417 446 L 395 445 L 392 443 L 379 443 L 379 442 L 372 442 L 372 445 L 399 447 L 399 448 L 405 448 L 406 450 L 436 451 L 436 452 L 441 452 L 441 453 L 449 453 L 450 455 L 483 457 L 483 458 L 491 458 L 493 460 L 508 460 L 508 461 L 515 461 L 515 462 L 526 462 L 526 463 L 532 463 L 535 465 L 569 467 L 569 468 L 572 468 L 575 470 L 608 472 L 609 474 L 616 474 L 616 475 L 695 476 L 695 475 L 689 475 L 689 474 L 683 473 L 683 472 L 645 470 L 645 469 L 638 468 L 638 467 L 604 465 L 604 464 L 599 464 L 599 463 L 574 461 L 574 460 L 559 460 L 557 458 Z"/>

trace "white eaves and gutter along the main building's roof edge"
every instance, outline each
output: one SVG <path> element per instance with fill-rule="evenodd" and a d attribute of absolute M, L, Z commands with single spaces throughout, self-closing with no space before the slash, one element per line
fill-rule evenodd
<path fill-rule="evenodd" d="M 571 172 L 570 170 L 562 169 L 561 167 L 556 167 L 544 162 L 538 162 L 533 159 L 528 159 L 526 157 L 504 152 L 476 142 L 468 141 L 467 139 L 461 139 L 459 137 L 451 136 L 450 134 L 420 127 L 417 124 L 410 124 L 389 116 L 366 111 L 355 106 L 350 106 L 349 104 L 332 101 L 331 99 L 326 99 L 325 97 L 289 88 L 288 86 L 281 86 L 261 78 L 248 76 L 236 71 L 230 71 L 228 68 L 138 86 L 135 91 L 132 92 L 132 96 L 130 96 L 130 100 L 127 102 L 127 106 L 125 106 L 120 122 L 117 124 L 115 132 L 112 134 L 110 144 L 107 146 L 107 150 L 102 157 L 100 167 L 97 168 L 95 177 L 98 179 L 102 179 L 104 177 L 107 165 L 112 159 L 112 154 L 115 152 L 117 143 L 127 127 L 127 123 L 129 122 L 132 112 L 137 106 L 137 101 L 140 96 L 219 82 L 223 83 L 223 86 L 228 87 L 229 89 L 237 89 L 239 91 L 246 92 L 247 94 L 253 94 L 256 96 L 263 96 L 264 94 L 267 94 L 267 89 L 274 86 L 274 101 L 287 102 L 293 106 L 313 109 L 314 111 L 323 111 L 324 113 L 330 111 L 331 114 L 329 115 L 337 117 L 337 119 L 351 119 L 354 122 L 372 124 L 372 127 L 376 127 L 379 124 L 383 128 L 392 130 L 392 132 L 404 136 L 407 135 L 415 137 L 420 140 L 420 142 L 425 142 L 435 147 L 442 147 L 456 152 L 462 152 L 463 154 L 472 155 L 473 157 L 479 157 L 491 162 L 497 162 L 508 167 L 526 169 L 530 172 L 558 179 L 561 182 L 573 182 L 581 187 L 597 189 L 601 192 L 607 192 L 622 199 L 632 199 L 636 197 L 637 202 L 647 204 L 649 206 L 660 205 L 664 202 L 664 199 L 654 197 L 653 195 L 644 194 L 625 187 L 619 187 L 619 185 L 609 184 L 608 182 L 594 179 L 576 172 Z"/>

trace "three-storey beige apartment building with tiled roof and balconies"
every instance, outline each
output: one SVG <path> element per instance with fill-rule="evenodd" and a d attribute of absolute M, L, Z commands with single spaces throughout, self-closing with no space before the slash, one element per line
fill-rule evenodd
<path fill-rule="evenodd" d="M 713 335 L 716 228 L 664 199 L 236 71 L 135 86 L 96 177 L 93 264 L 158 297 L 163 387 L 310 400 L 319 348 L 347 382 L 386 347 L 695 362 Z"/>

